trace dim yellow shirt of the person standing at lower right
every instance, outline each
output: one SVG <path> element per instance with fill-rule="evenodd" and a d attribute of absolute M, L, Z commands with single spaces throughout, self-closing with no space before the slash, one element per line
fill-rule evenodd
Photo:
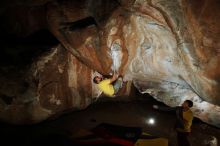
<path fill-rule="evenodd" d="M 192 120 L 193 120 L 193 112 L 190 109 L 187 110 L 187 111 L 183 111 L 184 129 L 177 128 L 177 131 L 180 131 L 180 132 L 191 132 Z"/>

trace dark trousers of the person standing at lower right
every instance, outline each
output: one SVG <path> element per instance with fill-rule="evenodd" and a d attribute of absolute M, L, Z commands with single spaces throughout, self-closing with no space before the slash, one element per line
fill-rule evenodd
<path fill-rule="evenodd" d="M 189 132 L 178 132 L 177 131 L 177 141 L 178 146 L 191 146 L 189 143 Z"/>

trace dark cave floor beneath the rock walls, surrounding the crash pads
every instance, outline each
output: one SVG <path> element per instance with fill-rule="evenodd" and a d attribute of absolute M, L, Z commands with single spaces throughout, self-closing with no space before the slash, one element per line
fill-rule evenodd
<path fill-rule="evenodd" d="M 101 123 L 128 127 L 141 127 L 143 131 L 169 139 L 170 145 L 176 143 L 173 129 L 174 114 L 161 113 L 152 109 L 158 103 L 151 97 L 100 98 L 85 110 L 64 114 L 59 118 L 48 119 L 35 125 L 0 124 L 0 137 L 7 145 L 73 145 L 72 139 L 82 129 L 90 130 Z M 153 118 L 155 123 L 147 121 Z M 191 141 L 193 145 L 203 145 L 199 139 L 216 137 L 220 130 L 195 120 Z M 204 143 L 205 145 L 205 143 Z"/>

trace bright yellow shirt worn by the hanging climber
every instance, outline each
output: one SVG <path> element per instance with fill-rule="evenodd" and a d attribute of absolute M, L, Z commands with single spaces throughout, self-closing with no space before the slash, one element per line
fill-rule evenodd
<path fill-rule="evenodd" d="M 104 92 L 104 94 L 106 94 L 108 96 L 113 96 L 114 95 L 114 88 L 110 82 L 111 82 L 110 79 L 102 80 L 98 84 L 98 87 L 102 92 Z"/>

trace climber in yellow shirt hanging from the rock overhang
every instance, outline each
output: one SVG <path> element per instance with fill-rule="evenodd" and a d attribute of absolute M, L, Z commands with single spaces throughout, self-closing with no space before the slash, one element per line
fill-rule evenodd
<path fill-rule="evenodd" d="M 98 85 L 98 88 L 107 96 L 114 96 L 122 87 L 122 78 L 118 74 L 114 74 L 109 79 L 103 79 L 101 76 L 95 76 L 93 82 Z"/>

